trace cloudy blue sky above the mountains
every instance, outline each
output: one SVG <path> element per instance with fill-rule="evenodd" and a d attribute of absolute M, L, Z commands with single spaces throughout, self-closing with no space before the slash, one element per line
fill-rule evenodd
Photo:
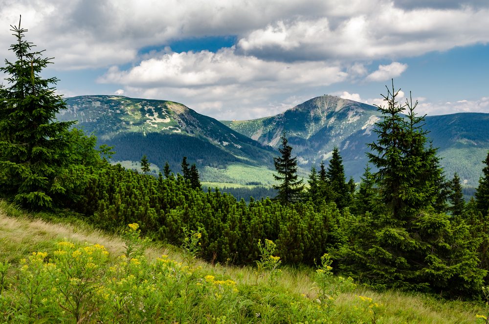
<path fill-rule="evenodd" d="M 252 119 L 323 94 L 381 105 L 394 79 L 420 114 L 489 113 L 487 0 L 0 0 L 0 66 L 20 15 L 66 97 Z"/>

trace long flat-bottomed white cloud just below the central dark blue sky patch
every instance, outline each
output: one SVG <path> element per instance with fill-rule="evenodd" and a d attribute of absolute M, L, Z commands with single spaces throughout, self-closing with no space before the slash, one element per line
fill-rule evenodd
<path fill-rule="evenodd" d="M 339 66 L 321 62 L 268 62 L 254 56 L 237 55 L 233 48 L 217 53 L 165 53 L 121 71 L 112 67 L 100 82 L 138 87 L 205 87 L 230 84 L 270 86 L 330 85 L 345 80 Z"/>

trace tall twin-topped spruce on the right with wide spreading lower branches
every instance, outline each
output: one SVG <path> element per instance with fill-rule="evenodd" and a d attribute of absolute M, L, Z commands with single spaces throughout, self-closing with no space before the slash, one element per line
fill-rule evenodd
<path fill-rule="evenodd" d="M 346 219 L 350 242 L 332 253 L 341 272 L 378 287 L 472 295 L 486 274 L 477 267 L 480 240 L 433 208 L 443 182 L 436 149 L 427 147 L 416 103 L 399 105 L 398 94 L 388 89 L 387 107 L 378 107 L 378 140 L 369 144 L 377 210 Z"/>

